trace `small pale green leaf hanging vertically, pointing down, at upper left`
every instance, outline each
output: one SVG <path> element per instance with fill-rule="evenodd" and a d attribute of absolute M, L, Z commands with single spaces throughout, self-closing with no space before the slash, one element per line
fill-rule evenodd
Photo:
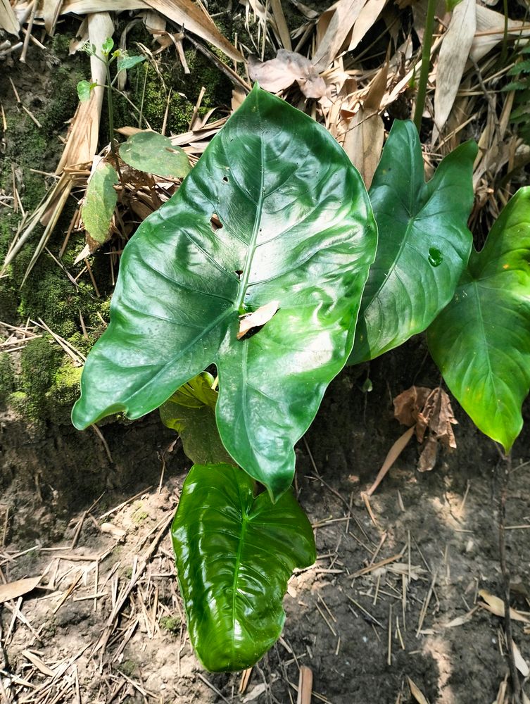
<path fill-rule="evenodd" d="M 94 241 L 103 244 L 108 239 L 111 218 L 116 207 L 116 191 L 113 186 L 118 183 L 118 174 L 114 168 L 100 161 L 90 177 L 87 194 L 81 209 L 85 230 Z"/>

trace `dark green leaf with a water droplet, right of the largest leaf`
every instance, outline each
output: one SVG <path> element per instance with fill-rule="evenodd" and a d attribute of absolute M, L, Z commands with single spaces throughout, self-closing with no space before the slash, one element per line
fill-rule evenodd
<path fill-rule="evenodd" d="M 373 359 L 422 332 L 453 297 L 472 246 L 477 145 L 466 142 L 425 183 L 412 122 L 393 122 L 370 188 L 377 256 L 362 294 L 348 364 Z"/>

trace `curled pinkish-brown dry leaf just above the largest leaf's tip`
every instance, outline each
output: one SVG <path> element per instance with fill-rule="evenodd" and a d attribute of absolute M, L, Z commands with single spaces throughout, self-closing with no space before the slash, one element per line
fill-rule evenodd
<path fill-rule="evenodd" d="M 280 49 L 270 61 L 249 56 L 248 76 L 271 93 L 289 88 L 295 81 L 306 98 L 322 98 L 326 93 L 326 82 L 313 63 L 296 51 Z"/>

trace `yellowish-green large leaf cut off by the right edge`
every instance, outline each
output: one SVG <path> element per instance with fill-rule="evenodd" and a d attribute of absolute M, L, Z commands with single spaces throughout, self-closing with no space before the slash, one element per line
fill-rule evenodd
<path fill-rule="evenodd" d="M 472 252 L 427 341 L 462 408 L 509 451 L 530 389 L 530 187 L 517 191 L 484 249 Z"/>

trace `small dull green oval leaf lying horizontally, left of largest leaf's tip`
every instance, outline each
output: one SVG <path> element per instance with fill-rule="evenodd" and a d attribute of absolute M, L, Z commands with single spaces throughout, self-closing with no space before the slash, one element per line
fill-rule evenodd
<path fill-rule="evenodd" d="M 133 134 L 120 144 L 120 156 L 132 168 L 158 176 L 184 178 L 190 171 L 186 152 L 158 132 Z"/>

